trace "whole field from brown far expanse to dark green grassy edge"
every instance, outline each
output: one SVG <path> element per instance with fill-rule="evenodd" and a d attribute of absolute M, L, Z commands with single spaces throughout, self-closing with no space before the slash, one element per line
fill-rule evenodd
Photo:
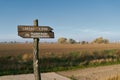
<path fill-rule="evenodd" d="M 31 43 L 0 44 L 0 75 L 33 73 L 32 45 Z M 41 72 L 120 63 L 120 44 L 40 43 L 39 48 Z"/>

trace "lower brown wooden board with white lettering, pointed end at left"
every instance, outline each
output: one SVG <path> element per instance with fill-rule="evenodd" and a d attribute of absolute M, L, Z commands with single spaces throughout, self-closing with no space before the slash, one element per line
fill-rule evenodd
<path fill-rule="evenodd" d="M 19 32 L 23 38 L 54 38 L 54 32 Z"/>

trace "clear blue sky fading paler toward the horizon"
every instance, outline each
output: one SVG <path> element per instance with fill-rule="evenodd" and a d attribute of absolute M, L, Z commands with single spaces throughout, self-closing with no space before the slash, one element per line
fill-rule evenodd
<path fill-rule="evenodd" d="M 0 0 L 0 42 L 32 41 L 18 36 L 18 25 L 50 26 L 60 37 L 120 41 L 120 0 Z"/>

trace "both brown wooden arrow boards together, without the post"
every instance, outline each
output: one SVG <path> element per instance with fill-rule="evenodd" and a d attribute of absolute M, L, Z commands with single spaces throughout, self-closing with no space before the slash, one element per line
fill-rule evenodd
<path fill-rule="evenodd" d="M 49 26 L 18 26 L 18 35 L 23 38 L 54 38 L 54 32 Z"/>

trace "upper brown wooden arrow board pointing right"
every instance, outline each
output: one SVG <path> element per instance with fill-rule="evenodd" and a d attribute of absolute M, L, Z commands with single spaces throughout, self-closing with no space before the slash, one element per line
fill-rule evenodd
<path fill-rule="evenodd" d="M 49 26 L 18 26 L 19 31 L 52 31 L 53 29 Z"/>

